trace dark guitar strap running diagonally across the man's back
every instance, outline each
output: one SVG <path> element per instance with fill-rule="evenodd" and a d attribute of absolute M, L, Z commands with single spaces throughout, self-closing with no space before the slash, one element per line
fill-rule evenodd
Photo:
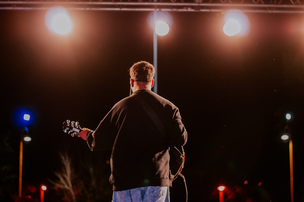
<path fill-rule="evenodd" d="M 147 114 L 150 116 L 151 120 L 154 122 L 154 125 L 157 126 L 158 130 L 161 132 L 161 134 L 167 139 L 168 143 L 169 140 L 166 136 L 165 130 L 164 130 L 164 125 L 162 124 L 161 120 L 158 118 L 158 116 L 155 114 L 154 110 L 150 107 L 150 105 L 140 96 L 132 96 L 135 98 L 135 100 L 142 106 L 142 108 L 147 112 Z M 170 145 L 169 145 L 170 146 Z M 171 146 L 170 146 L 171 148 Z M 169 148 L 169 149 L 170 149 Z M 182 165 L 183 163 L 183 154 L 177 149 L 176 147 L 173 147 L 171 149 L 171 152 L 177 159 L 177 163 Z"/>

